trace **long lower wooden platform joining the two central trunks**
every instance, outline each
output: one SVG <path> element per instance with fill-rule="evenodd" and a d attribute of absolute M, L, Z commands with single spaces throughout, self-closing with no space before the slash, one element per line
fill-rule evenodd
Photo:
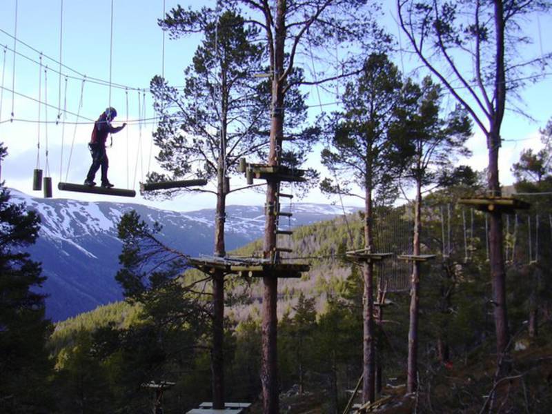
<path fill-rule="evenodd" d="M 223 270 L 224 273 L 233 273 L 244 277 L 298 278 L 301 277 L 301 273 L 311 269 L 308 264 L 271 263 L 269 259 L 256 257 L 190 257 L 188 263 L 204 273 L 212 274 L 215 270 Z"/>

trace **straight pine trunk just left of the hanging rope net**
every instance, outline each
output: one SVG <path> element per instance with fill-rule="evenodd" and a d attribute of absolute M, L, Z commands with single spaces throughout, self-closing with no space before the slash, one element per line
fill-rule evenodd
<path fill-rule="evenodd" d="M 367 179 L 368 181 L 368 179 Z M 372 229 L 372 194 L 370 183 L 366 186 L 364 210 L 364 246 L 368 251 L 373 248 Z M 363 268 L 364 274 L 364 364 L 362 373 L 362 402 L 375 401 L 375 347 L 374 347 L 374 286 L 373 263 L 367 262 Z"/>

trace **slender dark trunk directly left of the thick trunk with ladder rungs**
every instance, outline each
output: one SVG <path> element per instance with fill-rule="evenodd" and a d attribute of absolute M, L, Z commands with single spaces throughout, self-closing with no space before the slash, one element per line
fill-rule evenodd
<path fill-rule="evenodd" d="M 217 180 L 217 213 L 215 217 L 215 255 L 224 257 L 224 219 L 226 216 L 226 193 L 224 191 L 224 168 L 219 157 Z M 213 275 L 213 353 L 211 354 L 211 381 L 213 408 L 224 409 L 224 273 L 217 270 Z"/>

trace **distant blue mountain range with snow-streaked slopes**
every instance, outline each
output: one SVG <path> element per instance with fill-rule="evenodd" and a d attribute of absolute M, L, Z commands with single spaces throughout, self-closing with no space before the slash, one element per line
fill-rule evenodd
<path fill-rule="evenodd" d="M 25 202 L 41 216 L 40 237 L 29 251 L 32 259 L 42 262 L 43 274 L 48 277 L 43 293 L 48 294 L 47 315 L 54 321 L 122 298 L 115 282 L 121 253 L 117 223 L 128 210 L 136 210 L 146 222 L 162 224 L 161 239 L 177 250 L 189 255 L 213 252 L 212 209 L 179 213 L 140 204 L 34 198 L 17 190 L 11 194 L 13 202 Z M 331 205 L 293 204 L 291 208 L 293 217 L 284 218 L 281 228 L 342 214 L 341 207 Z M 263 231 L 262 206 L 228 206 L 228 251 L 261 237 Z"/>

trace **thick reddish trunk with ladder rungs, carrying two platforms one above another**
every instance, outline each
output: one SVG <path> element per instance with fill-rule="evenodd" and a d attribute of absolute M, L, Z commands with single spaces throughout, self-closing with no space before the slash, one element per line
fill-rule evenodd
<path fill-rule="evenodd" d="M 286 26 L 284 23 L 286 1 L 277 0 L 275 15 L 274 54 L 270 57 L 274 70 L 272 79 L 272 117 L 270 119 L 270 149 L 268 165 L 279 164 L 284 135 L 284 80 L 279 77 L 284 73 L 284 42 Z M 276 215 L 277 190 L 279 183 L 267 181 L 266 186 L 266 221 L 264 225 L 264 257 L 277 261 L 276 248 Z M 278 279 L 273 275 L 263 277 L 264 295 L 262 306 L 262 367 L 261 383 L 263 388 L 263 412 L 279 412 L 278 358 L 277 358 L 277 290 Z"/>

